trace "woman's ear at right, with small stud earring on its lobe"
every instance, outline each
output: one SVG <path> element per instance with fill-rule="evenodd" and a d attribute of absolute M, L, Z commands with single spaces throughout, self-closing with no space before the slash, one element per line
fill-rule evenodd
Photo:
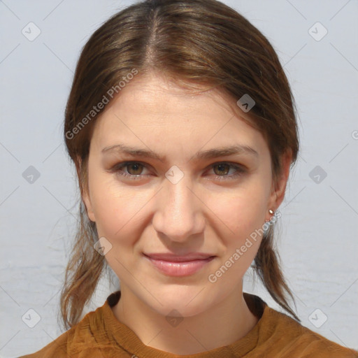
<path fill-rule="evenodd" d="M 268 210 L 271 209 L 274 212 L 281 205 L 283 198 L 285 197 L 285 191 L 287 186 L 287 180 L 289 178 L 289 169 L 292 163 L 292 151 L 287 150 L 281 157 L 282 172 L 276 181 L 272 183 L 271 196 L 268 200 L 268 208 L 266 210 L 266 220 L 271 219 L 271 214 Z"/>

